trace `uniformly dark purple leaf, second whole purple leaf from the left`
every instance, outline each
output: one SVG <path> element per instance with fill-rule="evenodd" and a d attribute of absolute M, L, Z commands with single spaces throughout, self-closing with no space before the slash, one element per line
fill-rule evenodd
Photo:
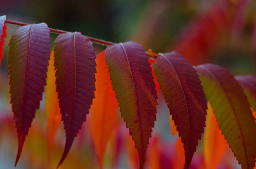
<path fill-rule="evenodd" d="M 92 42 L 75 32 L 56 38 L 54 57 L 60 113 L 66 130 L 66 144 L 59 166 L 89 113 L 95 90 L 96 56 Z"/>

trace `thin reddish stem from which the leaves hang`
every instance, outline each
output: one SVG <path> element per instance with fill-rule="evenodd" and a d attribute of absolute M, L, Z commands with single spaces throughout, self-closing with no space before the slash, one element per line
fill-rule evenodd
<path fill-rule="evenodd" d="M 25 23 L 20 23 L 20 22 L 17 22 L 17 21 L 11 21 L 11 20 L 6 20 L 5 23 L 7 24 L 13 24 L 13 25 L 19 25 L 19 26 L 27 26 L 27 25 L 30 25 L 30 24 L 25 24 Z M 51 33 L 57 33 L 57 34 L 62 34 L 62 33 L 69 33 L 69 32 L 66 32 L 64 30 L 58 30 L 58 29 L 52 29 L 52 28 L 49 28 L 50 29 L 50 32 Z M 115 43 L 112 43 L 112 42 L 107 42 L 107 41 L 103 41 L 101 39 L 97 39 L 97 38 L 92 38 L 92 37 L 88 37 L 86 36 L 90 41 L 94 42 L 94 43 L 98 43 L 100 45 L 105 45 L 105 46 L 109 46 L 109 45 L 115 45 Z"/>

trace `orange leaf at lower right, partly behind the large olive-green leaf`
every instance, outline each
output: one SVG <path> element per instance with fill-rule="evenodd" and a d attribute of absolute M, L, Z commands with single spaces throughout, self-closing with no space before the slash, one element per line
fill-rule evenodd
<path fill-rule="evenodd" d="M 207 107 L 206 127 L 203 136 L 203 157 L 205 168 L 215 169 L 218 168 L 228 144 L 219 130 L 218 122 L 209 102 Z"/>

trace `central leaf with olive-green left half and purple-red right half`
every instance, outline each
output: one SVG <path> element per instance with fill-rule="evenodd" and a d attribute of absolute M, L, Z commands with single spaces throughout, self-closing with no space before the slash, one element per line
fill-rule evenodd
<path fill-rule="evenodd" d="M 143 168 L 157 113 L 157 95 L 148 57 L 142 46 L 125 42 L 107 47 L 106 63 L 122 117 Z"/>

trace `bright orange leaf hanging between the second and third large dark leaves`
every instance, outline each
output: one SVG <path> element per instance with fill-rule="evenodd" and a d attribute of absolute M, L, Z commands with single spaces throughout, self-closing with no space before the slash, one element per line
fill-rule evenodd
<path fill-rule="evenodd" d="M 90 124 L 94 145 L 102 168 L 103 155 L 107 142 L 114 130 L 116 114 L 118 113 L 118 101 L 112 88 L 109 69 L 105 61 L 105 51 L 101 52 L 96 59 L 96 91 L 90 109 Z"/>

